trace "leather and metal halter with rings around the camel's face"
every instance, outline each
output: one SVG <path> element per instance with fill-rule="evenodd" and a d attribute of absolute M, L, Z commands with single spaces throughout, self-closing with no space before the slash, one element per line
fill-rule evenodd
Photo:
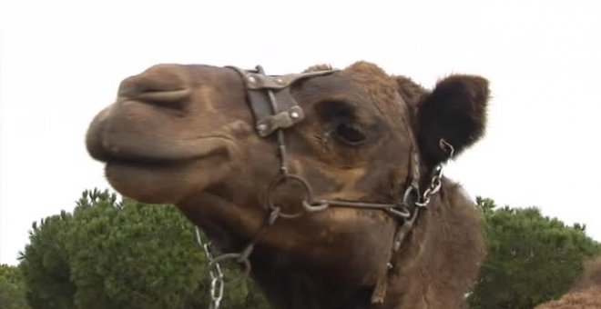
<path fill-rule="evenodd" d="M 358 201 L 341 201 L 341 200 L 321 200 L 315 198 L 311 184 L 298 174 L 291 174 L 288 168 L 287 151 L 284 140 L 284 130 L 290 126 L 296 125 L 304 119 L 302 107 L 297 104 L 296 100 L 290 94 L 290 85 L 301 79 L 307 79 L 315 76 L 331 75 L 337 70 L 316 71 L 301 74 L 291 75 L 265 75 L 263 69 L 258 65 L 255 70 L 243 70 L 238 67 L 228 66 L 235 70 L 242 78 L 250 103 L 250 109 L 255 120 L 255 128 L 257 134 L 261 137 L 267 137 L 272 134 L 277 135 L 278 152 L 280 155 L 280 175 L 274 179 L 267 189 L 267 205 L 270 209 L 270 214 L 264 227 L 258 234 L 255 234 L 248 244 L 240 253 L 222 254 L 216 257 L 212 262 L 212 267 L 218 264 L 219 261 L 226 259 L 234 259 L 239 264 L 245 265 L 245 271 L 250 273 L 249 256 L 260 240 L 262 234 L 266 233 L 270 225 L 274 224 L 278 217 L 293 218 L 306 213 L 320 212 L 329 207 L 347 207 L 361 208 L 371 210 L 381 210 L 392 215 L 399 223 L 396 228 L 396 233 L 393 239 L 391 256 L 386 265 L 382 265 L 381 274 L 378 275 L 378 282 L 372 294 L 373 304 L 382 304 L 386 294 L 386 283 L 388 281 L 388 271 L 392 268 L 392 254 L 399 250 L 403 239 L 408 234 L 416 218 L 419 215 L 421 208 L 425 208 L 429 202 L 431 194 L 435 194 L 440 188 L 442 176 L 442 168 L 434 168 L 431 178 L 430 187 L 420 194 L 420 161 L 417 151 L 415 138 L 412 130 L 407 127 L 407 131 L 411 135 L 412 150 L 408 175 L 409 179 L 405 186 L 404 194 L 398 196 L 395 201 L 389 204 L 366 203 Z M 407 125 L 408 119 L 403 119 L 403 123 Z M 272 200 L 273 193 L 279 188 L 280 184 L 285 182 L 296 182 L 301 184 L 305 191 L 305 197 L 302 202 L 302 209 L 297 213 L 287 214 L 280 210 L 280 207 L 274 204 Z"/>

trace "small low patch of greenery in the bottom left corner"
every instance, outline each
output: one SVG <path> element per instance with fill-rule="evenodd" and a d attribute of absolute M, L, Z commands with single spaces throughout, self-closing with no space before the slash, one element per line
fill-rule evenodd
<path fill-rule="evenodd" d="M 25 309 L 25 286 L 18 268 L 0 264 L 0 308 Z"/>

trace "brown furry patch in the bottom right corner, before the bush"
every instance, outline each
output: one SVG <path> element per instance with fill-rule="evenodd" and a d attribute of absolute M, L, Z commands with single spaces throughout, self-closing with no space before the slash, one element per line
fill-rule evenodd
<path fill-rule="evenodd" d="M 536 306 L 536 309 L 601 308 L 601 257 L 586 262 L 582 277 L 568 294 Z"/>

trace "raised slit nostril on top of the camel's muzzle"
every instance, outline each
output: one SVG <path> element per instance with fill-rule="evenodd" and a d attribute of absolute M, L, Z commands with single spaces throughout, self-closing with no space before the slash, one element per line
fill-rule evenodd
<path fill-rule="evenodd" d="M 150 104 L 177 103 L 190 95 L 176 65 L 155 65 L 140 75 L 127 77 L 118 95 Z"/>

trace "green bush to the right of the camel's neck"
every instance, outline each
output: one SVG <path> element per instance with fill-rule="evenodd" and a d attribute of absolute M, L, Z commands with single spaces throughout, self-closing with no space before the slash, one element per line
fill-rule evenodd
<path fill-rule="evenodd" d="M 564 294 L 584 260 L 601 254 L 586 226 L 567 226 L 535 208 L 498 208 L 478 197 L 488 255 L 470 295 L 472 308 L 533 308 Z"/>

